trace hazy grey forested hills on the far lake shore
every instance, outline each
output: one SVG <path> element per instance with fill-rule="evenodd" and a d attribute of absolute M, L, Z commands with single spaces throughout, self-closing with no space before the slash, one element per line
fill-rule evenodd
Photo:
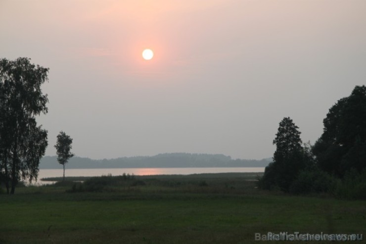
<path fill-rule="evenodd" d="M 152 157 L 124 157 L 118 159 L 92 160 L 74 157 L 67 163 L 67 168 L 174 168 L 174 167 L 266 167 L 272 159 L 233 160 L 222 154 L 170 153 Z M 56 156 L 42 158 L 40 169 L 58 169 Z"/>

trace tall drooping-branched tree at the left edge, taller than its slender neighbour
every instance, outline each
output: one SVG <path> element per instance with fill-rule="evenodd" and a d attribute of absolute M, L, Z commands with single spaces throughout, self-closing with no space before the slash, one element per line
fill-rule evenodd
<path fill-rule="evenodd" d="M 47 147 L 47 131 L 35 116 L 47 113 L 47 95 L 41 85 L 48 68 L 29 58 L 0 59 L 0 171 L 1 180 L 14 194 L 20 179 L 37 179 L 40 159 Z"/>

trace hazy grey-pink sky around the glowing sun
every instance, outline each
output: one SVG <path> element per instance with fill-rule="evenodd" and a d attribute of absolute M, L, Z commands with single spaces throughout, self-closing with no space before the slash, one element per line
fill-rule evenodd
<path fill-rule="evenodd" d="M 366 84 L 365 0 L 0 0 L 0 58 L 49 68 L 46 155 L 273 156 Z M 143 49 L 154 57 L 143 60 Z"/>

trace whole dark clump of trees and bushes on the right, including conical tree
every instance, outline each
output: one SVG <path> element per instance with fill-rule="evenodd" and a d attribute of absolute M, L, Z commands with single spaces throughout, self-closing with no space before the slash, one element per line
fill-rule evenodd
<path fill-rule="evenodd" d="M 323 120 L 314 146 L 303 144 L 291 118 L 283 118 L 276 150 L 259 180 L 262 189 L 289 193 L 330 193 L 366 199 L 366 86 L 338 100 Z"/>

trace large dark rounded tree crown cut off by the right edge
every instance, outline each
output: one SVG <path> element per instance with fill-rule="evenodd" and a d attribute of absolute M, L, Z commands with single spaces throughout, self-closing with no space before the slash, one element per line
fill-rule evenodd
<path fill-rule="evenodd" d="M 366 168 L 366 86 L 356 86 L 350 96 L 339 99 L 323 124 L 313 147 L 320 168 L 340 177 L 351 168 Z"/>

